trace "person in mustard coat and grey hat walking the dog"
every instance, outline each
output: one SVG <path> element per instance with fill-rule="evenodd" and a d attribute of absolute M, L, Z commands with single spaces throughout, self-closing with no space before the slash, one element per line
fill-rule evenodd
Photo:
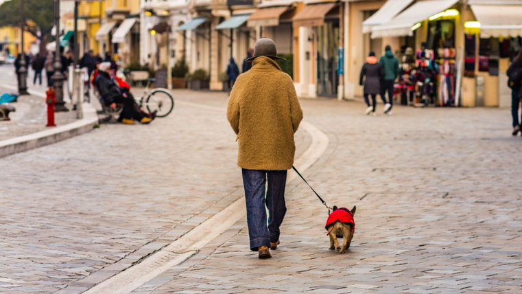
<path fill-rule="evenodd" d="M 294 133 L 302 120 L 294 82 L 276 60 L 284 59 L 277 57 L 274 41 L 259 39 L 247 60 L 252 68 L 237 78 L 226 111 L 239 141 L 250 249 L 259 258 L 271 258 L 268 247 L 279 244 L 287 170 L 294 164 Z"/>

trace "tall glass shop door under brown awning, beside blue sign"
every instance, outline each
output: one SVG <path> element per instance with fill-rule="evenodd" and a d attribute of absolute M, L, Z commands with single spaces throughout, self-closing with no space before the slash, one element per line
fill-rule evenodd
<path fill-rule="evenodd" d="M 327 21 L 317 27 L 317 94 L 337 97 L 337 48 L 339 48 L 339 21 Z"/>

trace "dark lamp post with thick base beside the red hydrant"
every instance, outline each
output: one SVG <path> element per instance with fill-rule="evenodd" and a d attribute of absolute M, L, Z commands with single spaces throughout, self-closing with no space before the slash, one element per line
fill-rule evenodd
<path fill-rule="evenodd" d="M 60 0 L 54 0 L 54 26 L 56 27 L 54 36 L 56 52 L 54 54 L 54 75 L 52 77 L 54 91 L 56 92 L 56 107 L 54 111 L 69 111 L 69 109 L 65 107 L 65 102 L 63 100 L 64 76 L 62 74 L 62 54 L 60 52 Z"/>

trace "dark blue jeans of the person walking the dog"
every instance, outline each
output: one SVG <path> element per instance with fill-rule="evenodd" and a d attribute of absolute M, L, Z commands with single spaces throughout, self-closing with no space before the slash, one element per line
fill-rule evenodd
<path fill-rule="evenodd" d="M 286 170 L 243 169 L 246 221 L 252 251 L 257 251 L 259 246 L 270 247 L 270 242 L 279 240 L 279 226 L 283 223 L 286 213 L 286 176 Z M 267 181 L 268 189 L 265 193 Z"/>

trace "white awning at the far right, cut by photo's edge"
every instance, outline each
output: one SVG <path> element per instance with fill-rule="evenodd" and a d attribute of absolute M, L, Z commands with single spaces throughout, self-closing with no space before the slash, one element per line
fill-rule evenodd
<path fill-rule="evenodd" d="M 480 36 L 522 36 L 522 5 L 471 5 Z"/>

